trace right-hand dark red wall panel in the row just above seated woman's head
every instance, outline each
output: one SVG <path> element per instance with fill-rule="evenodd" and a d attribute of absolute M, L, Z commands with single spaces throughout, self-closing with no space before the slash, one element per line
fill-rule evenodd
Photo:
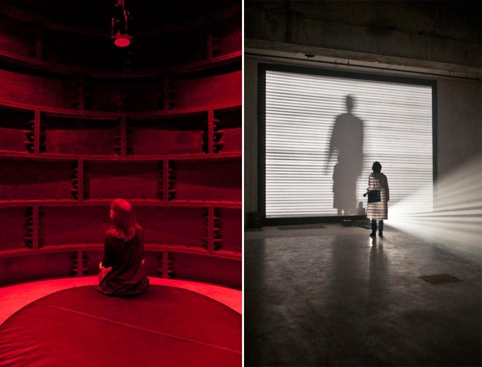
<path fill-rule="evenodd" d="M 171 163 L 176 200 L 241 201 L 241 158 Z"/>

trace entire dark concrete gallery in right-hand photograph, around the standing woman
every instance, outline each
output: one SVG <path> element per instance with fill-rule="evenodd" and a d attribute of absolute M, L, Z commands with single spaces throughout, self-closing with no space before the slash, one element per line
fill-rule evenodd
<path fill-rule="evenodd" d="M 480 15 L 245 2 L 246 365 L 481 365 Z"/>

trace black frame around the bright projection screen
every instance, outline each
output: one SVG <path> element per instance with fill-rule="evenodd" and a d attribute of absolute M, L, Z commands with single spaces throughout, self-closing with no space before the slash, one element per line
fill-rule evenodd
<path fill-rule="evenodd" d="M 266 71 L 281 71 L 299 74 L 332 76 L 348 79 L 385 81 L 392 83 L 428 85 L 432 88 L 432 172 L 433 183 L 437 180 L 437 81 L 411 77 L 367 74 L 345 70 L 310 68 L 283 64 L 258 64 L 258 212 L 261 225 L 286 225 L 309 223 L 336 223 L 343 219 L 361 220 L 366 216 L 317 216 L 266 218 Z M 434 201 L 435 201 L 435 192 Z"/>

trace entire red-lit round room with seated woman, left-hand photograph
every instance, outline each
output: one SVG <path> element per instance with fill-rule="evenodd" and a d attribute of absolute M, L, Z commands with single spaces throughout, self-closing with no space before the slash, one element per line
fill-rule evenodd
<path fill-rule="evenodd" d="M 241 39 L 233 0 L 0 1 L 0 365 L 242 363 Z"/>

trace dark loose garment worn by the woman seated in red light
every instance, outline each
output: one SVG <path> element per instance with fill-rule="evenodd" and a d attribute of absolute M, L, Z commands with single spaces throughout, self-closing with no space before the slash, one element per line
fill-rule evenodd
<path fill-rule="evenodd" d="M 112 296 L 127 296 L 144 292 L 149 279 L 144 259 L 144 233 L 141 229 L 133 238 L 124 242 L 107 235 L 104 240 L 102 266 L 112 270 L 100 282 L 101 292 Z"/>

